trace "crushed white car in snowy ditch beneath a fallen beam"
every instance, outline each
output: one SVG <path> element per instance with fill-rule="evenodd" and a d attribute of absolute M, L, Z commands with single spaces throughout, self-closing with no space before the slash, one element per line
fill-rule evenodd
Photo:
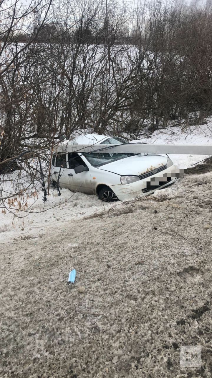
<path fill-rule="evenodd" d="M 70 144 L 129 144 L 123 138 L 86 134 Z M 60 177 L 58 180 L 58 174 Z M 103 201 L 144 196 L 172 184 L 175 166 L 166 155 L 109 152 L 55 152 L 51 164 L 55 186 L 86 194 Z"/>

